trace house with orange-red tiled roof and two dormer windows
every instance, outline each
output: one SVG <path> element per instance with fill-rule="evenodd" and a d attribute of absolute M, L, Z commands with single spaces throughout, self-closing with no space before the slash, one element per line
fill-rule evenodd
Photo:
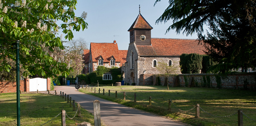
<path fill-rule="evenodd" d="M 121 67 L 126 62 L 127 50 L 119 50 L 116 41 L 113 43 L 90 43 L 90 49 L 84 50 L 85 68 L 83 73 L 91 73 L 98 66 L 107 68 Z"/>

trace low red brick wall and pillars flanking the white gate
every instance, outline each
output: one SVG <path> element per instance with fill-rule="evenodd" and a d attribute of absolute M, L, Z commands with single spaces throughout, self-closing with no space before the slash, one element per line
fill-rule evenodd
<path fill-rule="evenodd" d="M 16 93 L 16 81 L 3 81 L 0 82 L 0 94 L 1 93 Z M 47 90 L 51 89 L 51 78 L 47 78 Z M 20 80 L 21 92 L 29 92 L 29 78 Z"/>

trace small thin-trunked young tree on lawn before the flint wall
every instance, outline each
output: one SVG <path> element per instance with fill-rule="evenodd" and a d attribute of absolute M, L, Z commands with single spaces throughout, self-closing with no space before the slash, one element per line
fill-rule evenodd
<path fill-rule="evenodd" d="M 179 61 L 176 61 L 176 60 L 173 60 L 172 63 L 169 65 L 167 64 L 166 61 L 159 61 L 157 62 L 157 65 L 156 65 L 156 68 L 157 68 L 157 71 L 164 75 L 164 76 L 167 76 L 167 89 L 169 89 L 169 80 L 168 80 L 168 77 L 169 77 L 169 74 L 178 74 L 180 73 L 180 71 L 182 71 L 180 68 L 180 63 Z"/>

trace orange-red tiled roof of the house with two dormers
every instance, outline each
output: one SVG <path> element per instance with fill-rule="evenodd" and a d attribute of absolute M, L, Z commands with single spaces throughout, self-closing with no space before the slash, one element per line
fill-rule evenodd
<path fill-rule="evenodd" d="M 115 58 L 116 62 L 126 62 L 127 50 L 118 50 L 117 43 L 91 43 L 90 47 L 93 62 L 97 62 L 99 56 L 103 58 L 103 62 L 110 62 L 111 56 Z"/>

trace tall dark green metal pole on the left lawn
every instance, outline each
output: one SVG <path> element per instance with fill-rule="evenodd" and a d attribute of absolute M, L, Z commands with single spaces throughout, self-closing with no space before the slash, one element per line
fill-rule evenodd
<path fill-rule="evenodd" d="M 20 105 L 20 40 L 16 40 L 16 91 L 17 91 L 17 126 L 21 125 L 21 105 Z"/>

